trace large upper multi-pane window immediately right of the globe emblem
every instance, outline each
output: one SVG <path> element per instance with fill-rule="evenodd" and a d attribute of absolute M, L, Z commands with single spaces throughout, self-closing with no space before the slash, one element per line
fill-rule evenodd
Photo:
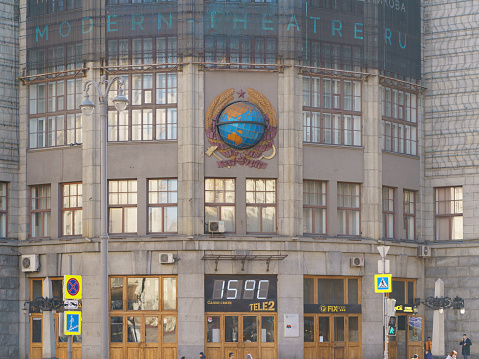
<path fill-rule="evenodd" d="M 361 146 L 361 82 L 303 76 L 303 141 Z"/>

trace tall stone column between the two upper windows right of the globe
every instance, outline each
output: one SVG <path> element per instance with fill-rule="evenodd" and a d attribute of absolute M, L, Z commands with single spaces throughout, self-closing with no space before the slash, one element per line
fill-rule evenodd
<path fill-rule="evenodd" d="M 377 75 L 377 70 L 369 70 Z M 361 235 L 382 238 L 381 91 L 379 77 L 363 82 L 364 173 L 361 193 Z"/>

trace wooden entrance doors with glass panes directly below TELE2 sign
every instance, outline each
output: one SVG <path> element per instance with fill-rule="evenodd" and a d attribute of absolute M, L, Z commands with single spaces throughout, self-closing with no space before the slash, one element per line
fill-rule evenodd
<path fill-rule="evenodd" d="M 206 314 L 206 357 L 276 359 L 276 315 Z"/>

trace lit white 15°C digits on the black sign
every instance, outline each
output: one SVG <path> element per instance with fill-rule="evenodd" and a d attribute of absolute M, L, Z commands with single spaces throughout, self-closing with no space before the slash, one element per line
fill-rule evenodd
<path fill-rule="evenodd" d="M 269 279 L 215 279 L 211 299 L 268 299 Z"/>

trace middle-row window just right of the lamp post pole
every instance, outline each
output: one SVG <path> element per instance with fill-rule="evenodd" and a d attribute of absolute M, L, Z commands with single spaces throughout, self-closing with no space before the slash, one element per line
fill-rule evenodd
<path fill-rule="evenodd" d="M 108 194 L 109 232 L 136 233 L 136 180 L 111 180 L 108 182 Z"/>

